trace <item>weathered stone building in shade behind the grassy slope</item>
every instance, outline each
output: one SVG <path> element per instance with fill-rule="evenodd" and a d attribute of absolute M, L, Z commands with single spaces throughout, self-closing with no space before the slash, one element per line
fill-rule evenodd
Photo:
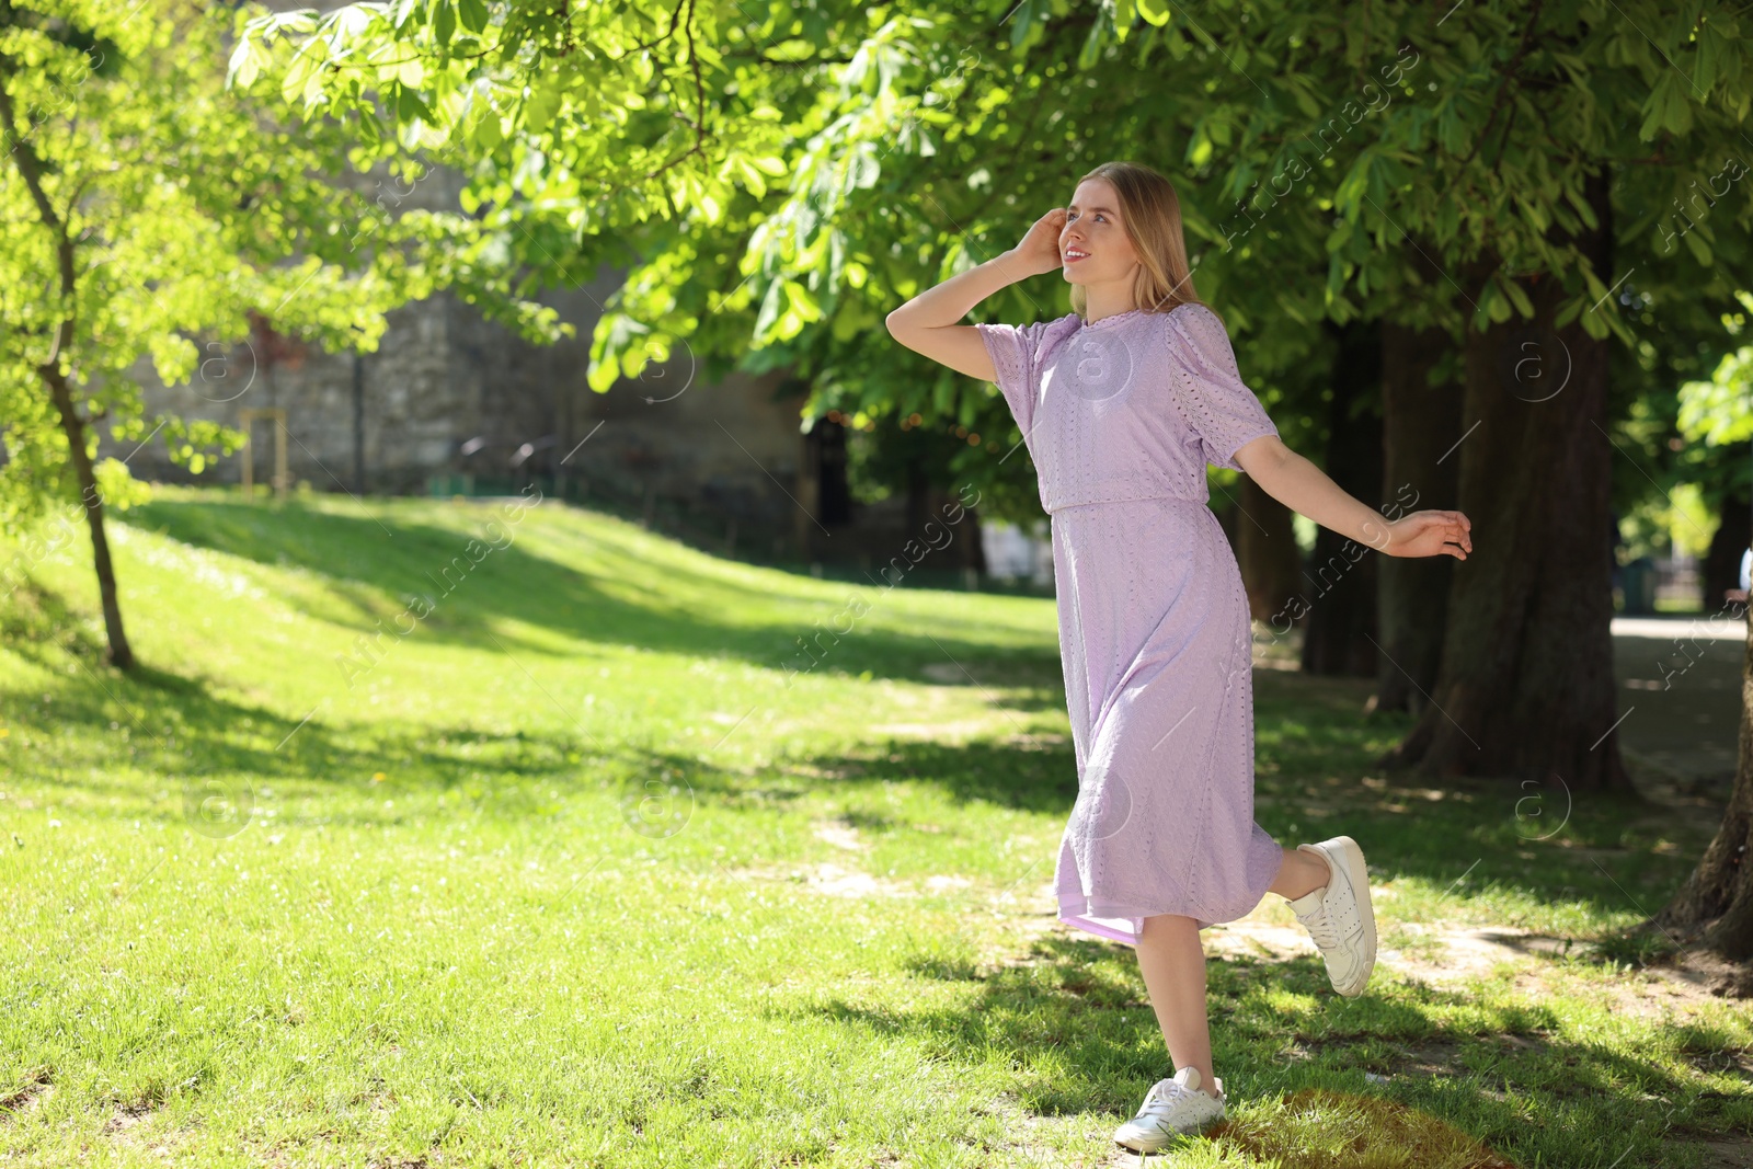
<path fill-rule="evenodd" d="M 379 175 L 337 181 L 386 186 L 398 209 L 459 207 L 461 177 L 436 166 L 412 189 Z M 135 373 L 147 415 L 247 429 L 251 450 L 191 477 L 149 442 L 130 466 L 140 478 L 237 484 L 249 464 L 268 484 L 279 440 L 287 484 L 317 491 L 496 494 L 538 482 L 547 494 L 617 507 L 713 552 L 866 571 L 889 563 L 912 538 L 906 501 L 850 499 L 845 435 L 827 421 L 805 428 L 806 386 L 796 379 L 731 373 L 705 384 L 684 349 L 605 394 L 589 389 L 591 333 L 624 277 L 605 266 L 542 294 L 575 329 L 550 347 L 436 294 L 394 310 L 377 352 L 363 356 L 291 342 L 268 321 L 228 352 L 212 345 L 184 386 L 163 386 L 142 359 Z M 256 414 L 273 410 L 284 422 Z M 124 454 L 117 447 L 105 440 L 103 454 Z M 938 508 L 915 499 L 913 515 L 922 503 Z M 985 568 L 989 542 L 957 543 L 936 557 L 955 563 L 931 570 Z M 1038 571 L 1018 575 L 1040 582 Z"/>

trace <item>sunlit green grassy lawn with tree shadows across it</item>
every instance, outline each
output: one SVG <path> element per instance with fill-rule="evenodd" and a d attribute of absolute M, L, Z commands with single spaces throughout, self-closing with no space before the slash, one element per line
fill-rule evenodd
<path fill-rule="evenodd" d="M 1052 917 L 1052 601 L 550 503 L 124 521 L 138 677 L 86 545 L 0 599 L 0 1162 L 1136 1164 L 1171 1069 Z M 1276 897 L 1208 931 L 1231 1122 L 1159 1164 L 1753 1164 L 1748 1008 L 1616 941 L 1700 818 L 1553 832 L 1376 769 L 1367 684 L 1255 689 L 1259 818 L 1364 845 L 1383 960 L 1339 999 Z"/>

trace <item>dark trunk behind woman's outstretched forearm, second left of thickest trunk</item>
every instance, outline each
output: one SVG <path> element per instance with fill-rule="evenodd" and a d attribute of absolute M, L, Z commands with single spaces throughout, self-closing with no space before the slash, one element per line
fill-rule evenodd
<path fill-rule="evenodd" d="M 1374 507 L 1381 496 L 1381 333 L 1374 321 L 1329 326 L 1339 342 L 1327 405 L 1327 477 Z M 1302 573 L 1309 617 L 1302 673 L 1376 675 L 1376 561 L 1367 547 L 1327 528 Z"/>

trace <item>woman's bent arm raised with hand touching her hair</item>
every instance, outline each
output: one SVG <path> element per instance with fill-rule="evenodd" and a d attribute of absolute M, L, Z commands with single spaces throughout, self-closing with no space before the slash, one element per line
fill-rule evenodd
<path fill-rule="evenodd" d="M 927 287 L 887 315 L 889 337 L 957 373 L 990 382 L 997 373 L 980 331 L 957 321 L 1001 287 L 1059 268 L 1059 231 L 1064 223 L 1066 210 L 1055 207 L 1029 228 L 1017 247 Z"/>

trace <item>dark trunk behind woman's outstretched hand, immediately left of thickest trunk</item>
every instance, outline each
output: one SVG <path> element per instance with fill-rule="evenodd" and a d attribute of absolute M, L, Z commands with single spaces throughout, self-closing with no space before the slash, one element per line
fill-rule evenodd
<path fill-rule="evenodd" d="M 1453 508 L 1462 386 L 1430 384 L 1451 349 L 1437 328 L 1381 324 L 1381 505 L 1390 519 Z M 1423 713 L 1443 662 L 1451 556 L 1376 557 L 1376 710 Z"/>

